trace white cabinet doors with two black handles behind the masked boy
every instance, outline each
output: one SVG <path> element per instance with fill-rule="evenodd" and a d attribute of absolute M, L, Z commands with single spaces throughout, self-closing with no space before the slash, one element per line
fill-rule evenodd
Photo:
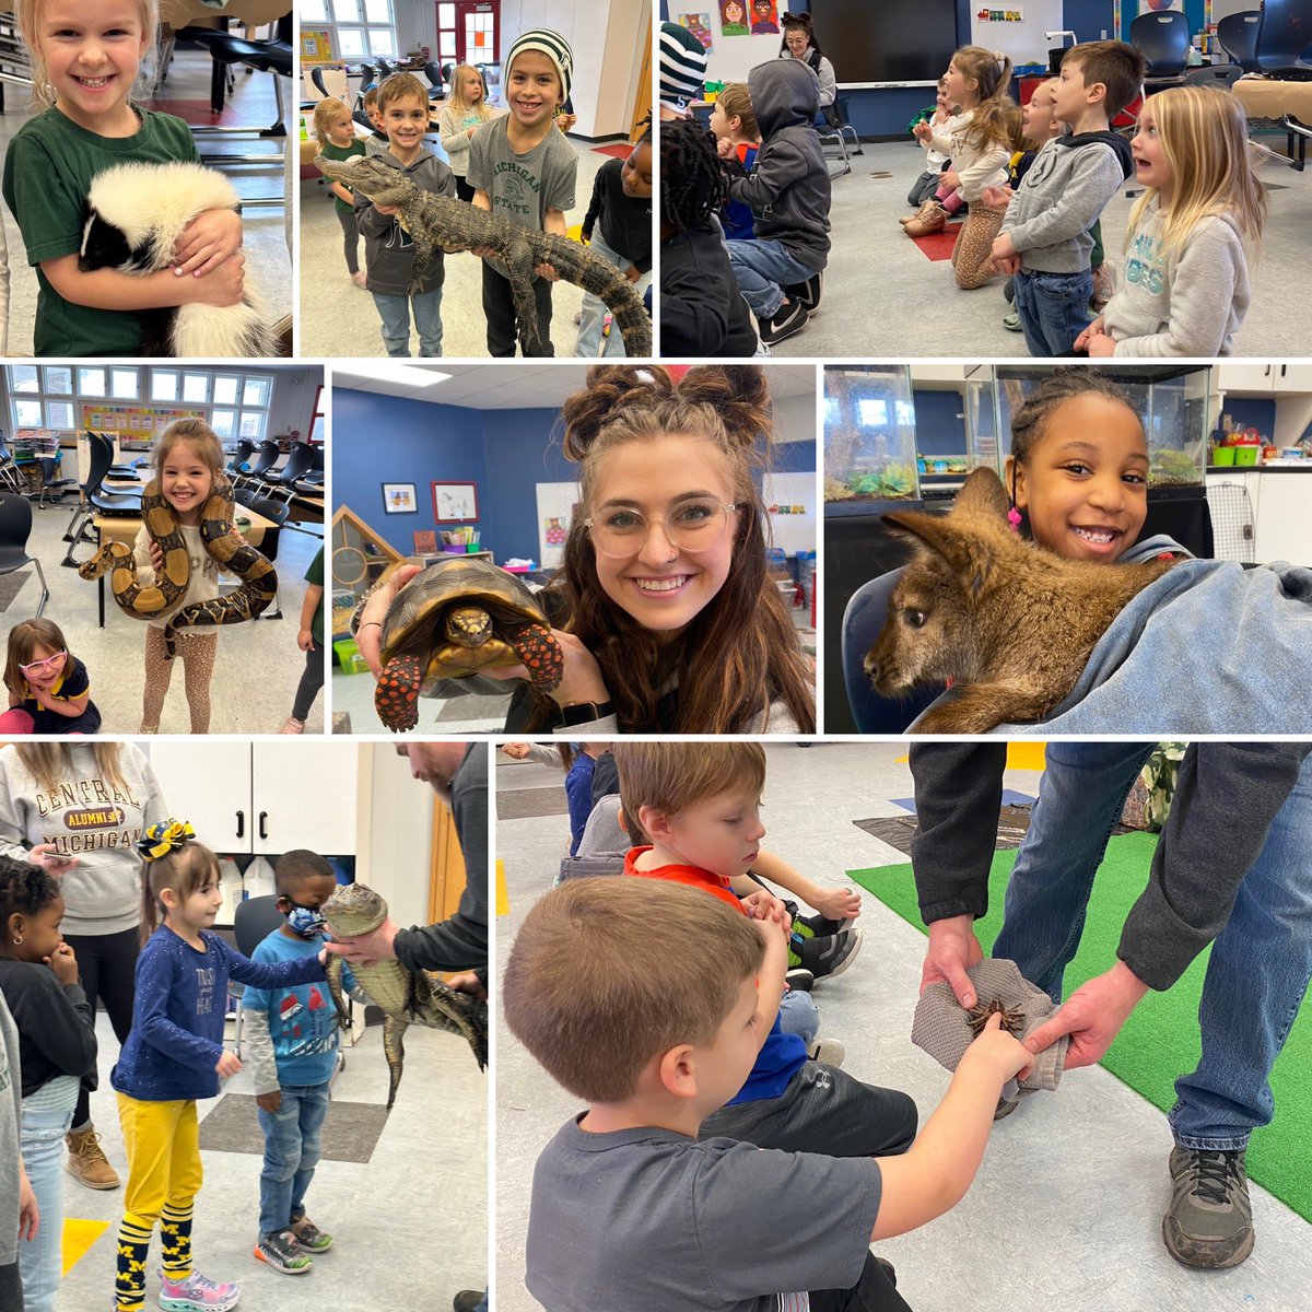
<path fill-rule="evenodd" d="M 171 813 L 215 851 L 356 851 L 358 744 L 160 740 L 150 752 Z"/>

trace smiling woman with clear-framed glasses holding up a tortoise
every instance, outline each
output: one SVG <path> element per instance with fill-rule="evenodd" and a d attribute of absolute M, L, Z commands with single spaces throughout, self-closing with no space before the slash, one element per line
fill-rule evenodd
<path fill-rule="evenodd" d="M 812 672 L 768 573 L 752 478 L 770 436 L 761 370 L 699 366 L 676 383 L 660 366 L 596 366 L 563 420 L 581 495 L 539 601 L 564 677 L 550 697 L 521 684 L 506 731 L 812 732 Z M 375 673 L 378 627 L 417 572 L 399 569 L 363 609 L 359 647 Z"/>

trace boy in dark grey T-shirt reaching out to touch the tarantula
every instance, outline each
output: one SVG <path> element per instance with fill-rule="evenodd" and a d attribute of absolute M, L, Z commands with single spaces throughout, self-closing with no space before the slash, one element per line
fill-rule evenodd
<path fill-rule="evenodd" d="M 548 1312 L 907 1312 L 870 1244 L 960 1200 L 1031 1055 L 991 1022 L 900 1157 L 699 1140 L 752 1069 L 786 960 L 782 921 L 660 880 L 572 880 L 525 917 L 506 1022 L 589 1103 L 534 1169 L 526 1283 Z"/>

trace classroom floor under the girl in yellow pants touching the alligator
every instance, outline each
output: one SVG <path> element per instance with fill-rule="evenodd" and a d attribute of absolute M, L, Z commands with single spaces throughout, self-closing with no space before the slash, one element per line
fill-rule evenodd
<path fill-rule="evenodd" d="M 126 1157 L 109 1084 L 118 1040 L 104 1014 L 96 1035 L 100 1089 L 92 1094 L 92 1120 L 110 1164 L 123 1176 Z M 325 1153 L 306 1198 L 308 1215 L 335 1244 L 303 1278 L 287 1279 L 251 1253 L 264 1140 L 249 1103 L 224 1103 L 231 1094 L 252 1093 L 248 1068 L 227 1081 L 218 1099 L 198 1105 L 205 1186 L 193 1237 L 201 1271 L 240 1284 L 244 1308 L 279 1312 L 449 1308 L 458 1290 L 482 1288 L 488 1260 L 487 1077 L 462 1038 L 417 1025 L 407 1030 L 404 1081 L 386 1118 L 382 1026 L 370 1026 L 348 1050 L 332 1088 Z M 333 1134 L 335 1114 L 341 1115 L 346 1103 L 363 1106 Z M 226 1122 L 220 1141 L 234 1151 L 207 1147 L 206 1120 L 215 1114 Z M 56 1312 L 100 1312 L 113 1302 L 123 1191 L 94 1191 L 66 1176 L 64 1207 L 75 1223 L 66 1227 L 66 1245 L 72 1244 L 76 1261 L 59 1287 Z M 157 1271 L 156 1236 L 147 1262 L 148 1307 L 159 1291 Z"/>

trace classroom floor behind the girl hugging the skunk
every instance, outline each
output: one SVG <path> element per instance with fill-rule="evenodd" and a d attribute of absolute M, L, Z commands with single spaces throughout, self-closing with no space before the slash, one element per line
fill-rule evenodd
<path fill-rule="evenodd" d="M 285 113 L 291 105 L 290 83 L 283 83 Z M 193 126 L 214 122 L 210 113 L 210 56 L 203 50 L 178 50 L 169 66 L 168 77 L 156 92 L 150 108 L 185 118 Z M 218 119 L 220 126 L 258 125 L 273 122 L 273 79 L 269 73 L 251 73 L 237 70 L 236 88 Z M 28 94 L 22 87 L 5 89 L 5 112 L 0 114 L 0 155 L 26 122 Z M 285 140 L 285 139 L 283 139 Z M 206 160 L 231 177 L 244 197 L 282 195 L 286 190 L 283 176 L 283 140 L 255 136 L 197 136 L 197 150 L 203 155 L 256 155 L 268 154 L 270 163 L 228 164 Z M 8 206 L 3 210 L 4 235 L 9 247 L 9 354 L 31 354 L 31 327 L 37 316 L 37 274 L 24 255 L 22 235 Z M 291 295 L 291 241 L 287 211 L 283 205 L 248 206 L 241 215 L 247 257 L 247 278 L 258 279 L 274 320 L 293 312 Z"/>

